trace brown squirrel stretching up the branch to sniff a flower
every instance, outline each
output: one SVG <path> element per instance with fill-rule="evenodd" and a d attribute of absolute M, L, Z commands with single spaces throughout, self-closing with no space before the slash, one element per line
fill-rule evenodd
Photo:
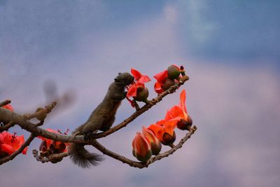
<path fill-rule="evenodd" d="M 109 130 L 115 120 L 118 107 L 126 97 L 125 88 L 133 82 L 134 76 L 131 74 L 119 73 L 109 86 L 103 101 L 90 114 L 90 118 L 83 125 L 77 127 L 72 134 L 84 135 L 84 139 L 89 140 L 91 135 L 98 130 Z M 84 146 L 85 144 L 69 144 L 69 155 L 74 164 L 85 168 L 91 165 L 99 165 L 99 161 L 104 160 L 102 155 L 90 153 Z"/>

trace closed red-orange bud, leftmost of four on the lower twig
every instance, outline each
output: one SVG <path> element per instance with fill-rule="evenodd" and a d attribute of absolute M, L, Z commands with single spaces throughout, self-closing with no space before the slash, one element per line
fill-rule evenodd
<path fill-rule="evenodd" d="M 146 162 L 152 156 L 150 140 L 140 132 L 136 133 L 132 141 L 132 154 L 141 162 Z"/>

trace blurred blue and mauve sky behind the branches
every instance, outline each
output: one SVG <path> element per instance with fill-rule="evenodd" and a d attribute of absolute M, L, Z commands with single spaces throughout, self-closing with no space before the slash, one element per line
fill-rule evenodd
<path fill-rule="evenodd" d="M 279 10 L 272 0 L 0 0 L 0 101 L 11 99 L 16 112 L 45 106 L 52 81 L 73 102 L 44 127 L 73 130 L 118 72 L 150 76 L 152 99 L 153 75 L 177 64 L 190 76 L 181 89 L 198 127 L 183 148 L 146 169 L 108 156 L 92 169 L 69 158 L 42 164 L 31 154 L 36 139 L 27 155 L 1 165 L 0 186 L 279 186 Z M 180 92 L 100 142 L 134 159 L 136 132 L 164 118 Z M 123 101 L 116 124 L 133 112 Z M 178 142 L 185 132 L 176 133 Z"/>

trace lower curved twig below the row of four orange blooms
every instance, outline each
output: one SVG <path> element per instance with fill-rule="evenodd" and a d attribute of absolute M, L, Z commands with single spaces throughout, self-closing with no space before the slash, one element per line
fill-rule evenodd
<path fill-rule="evenodd" d="M 109 155 L 112 158 L 115 158 L 116 160 L 120 160 L 121 162 L 130 165 L 131 167 L 138 167 L 138 168 L 144 168 L 144 167 L 148 167 L 149 165 L 151 165 L 153 162 L 157 161 L 157 160 L 161 160 L 162 158 L 165 158 L 169 155 L 172 155 L 175 151 L 177 151 L 179 148 L 181 148 L 183 146 L 183 144 L 185 144 L 185 142 L 190 139 L 191 135 L 195 133 L 195 131 L 197 130 L 196 126 L 193 126 L 190 129 L 190 132 L 188 132 L 186 134 L 185 137 L 183 137 L 183 139 L 181 139 L 181 141 L 179 141 L 179 144 L 177 144 L 176 146 L 174 146 L 173 148 L 171 148 L 169 151 L 166 151 L 165 153 L 161 153 L 159 155 L 155 155 L 152 158 L 150 158 L 147 162 L 136 162 L 133 160 L 130 160 L 129 158 L 125 158 L 123 155 L 118 155 L 117 153 L 114 153 L 113 151 L 110 151 L 109 149 L 105 148 L 104 146 L 102 146 L 102 144 L 99 144 L 98 141 L 94 140 L 92 143 L 92 146 L 94 146 L 95 148 L 97 148 L 99 151 L 101 151 L 102 153 L 104 153 L 105 155 Z"/>

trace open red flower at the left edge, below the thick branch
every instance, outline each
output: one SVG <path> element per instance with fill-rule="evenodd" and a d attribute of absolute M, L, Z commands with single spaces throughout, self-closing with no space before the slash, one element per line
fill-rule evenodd
<path fill-rule="evenodd" d="M 20 146 L 25 142 L 23 135 L 17 136 L 10 134 L 9 132 L 0 133 L 0 158 L 6 157 L 7 155 L 13 154 L 17 151 Z M 22 151 L 22 154 L 26 155 L 27 147 Z"/>

